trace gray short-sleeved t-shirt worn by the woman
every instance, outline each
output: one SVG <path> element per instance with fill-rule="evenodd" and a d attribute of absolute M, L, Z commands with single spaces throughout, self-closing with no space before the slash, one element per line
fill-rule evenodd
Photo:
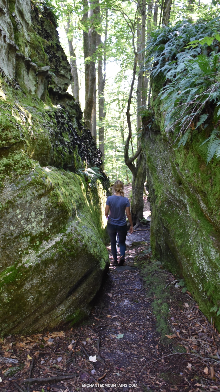
<path fill-rule="evenodd" d="M 124 214 L 125 207 L 130 207 L 130 202 L 127 197 L 123 196 L 108 196 L 106 205 L 110 207 L 110 214 L 108 216 L 108 223 L 111 225 L 123 226 L 126 224 L 126 216 Z"/>

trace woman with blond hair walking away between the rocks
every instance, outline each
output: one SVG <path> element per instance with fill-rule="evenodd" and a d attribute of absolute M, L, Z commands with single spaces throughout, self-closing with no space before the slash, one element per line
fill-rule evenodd
<path fill-rule="evenodd" d="M 122 266 L 124 264 L 124 255 L 126 250 L 125 240 L 128 232 L 128 226 L 126 221 L 126 216 L 124 211 L 126 211 L 127 218 L 130 222 L 129 232 L 133 233 L 133 222 L 130 213 L 130 202 L 128 198 L 124 197 L 124 184 L 122 181 L 117 180 L 114 183 L 113 189 L 115 195 L 108 196 L 106 200 L 105 216 L 108 220 L 107 231 L 111 239 L 112 255 L 114 258 L 113 265 Z M 108 211 L 110 209 L 110 214 Z M 116 238 L 117 234 L 119 237 L 119 247 L 120 247 L 120 260 L 117 262 L 117 248 L 116 248 Z"/>

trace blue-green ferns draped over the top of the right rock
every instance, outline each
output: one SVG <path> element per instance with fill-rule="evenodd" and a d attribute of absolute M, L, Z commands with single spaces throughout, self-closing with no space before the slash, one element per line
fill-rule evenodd
<path fill-rule="evenodd" d="M 194 24 L 178 22 L 151 33 L 146 48 L 151 78 L 163 79 L 159 97 L 168 140 L 178 142 L 178 148 L 208 127 L 209 137 L 202 143 L 207 145 L 207 163 L 215 154 L 220 157 L 219 31 L 219 17 Z M 204 40 L 213 34 L 212 40 Z M 197 40 L 196 47 L 186 47 L 192 40 Z"/>

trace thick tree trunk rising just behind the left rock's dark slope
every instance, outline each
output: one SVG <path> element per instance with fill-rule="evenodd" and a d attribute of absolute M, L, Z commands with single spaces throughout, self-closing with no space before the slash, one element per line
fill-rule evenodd
<path fill-rule="evenodd" d="M 91 2 L 92 4 L 92 2 Z M 90 20 L 92 28 L 90 30 L 90 63 L 89 63 L 89 75 L 88 75 L 88 95 L 85 102 L 84 109 L 84 121 L 87 128 L 92 129 L 92 108 L 94 100 L 94 85 L 96 83 L 96 44 L 97 44 L 97 32 L 92 21 L 96 18 L 98 7 L 90 8 Z"/>

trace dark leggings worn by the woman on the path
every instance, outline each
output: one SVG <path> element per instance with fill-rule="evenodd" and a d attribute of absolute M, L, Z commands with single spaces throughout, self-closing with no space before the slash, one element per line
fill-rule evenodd
<path fill-rule="evenodd" d="M 108 235 L 111 240 L 112 256 L 114 260 L 117 260 L 117 233 L 119 238 L 120 255 L 124 256 L 126 251 L 125 240 L 128 232 L 127 223 L 123 226 L 107 224 Z"/>

